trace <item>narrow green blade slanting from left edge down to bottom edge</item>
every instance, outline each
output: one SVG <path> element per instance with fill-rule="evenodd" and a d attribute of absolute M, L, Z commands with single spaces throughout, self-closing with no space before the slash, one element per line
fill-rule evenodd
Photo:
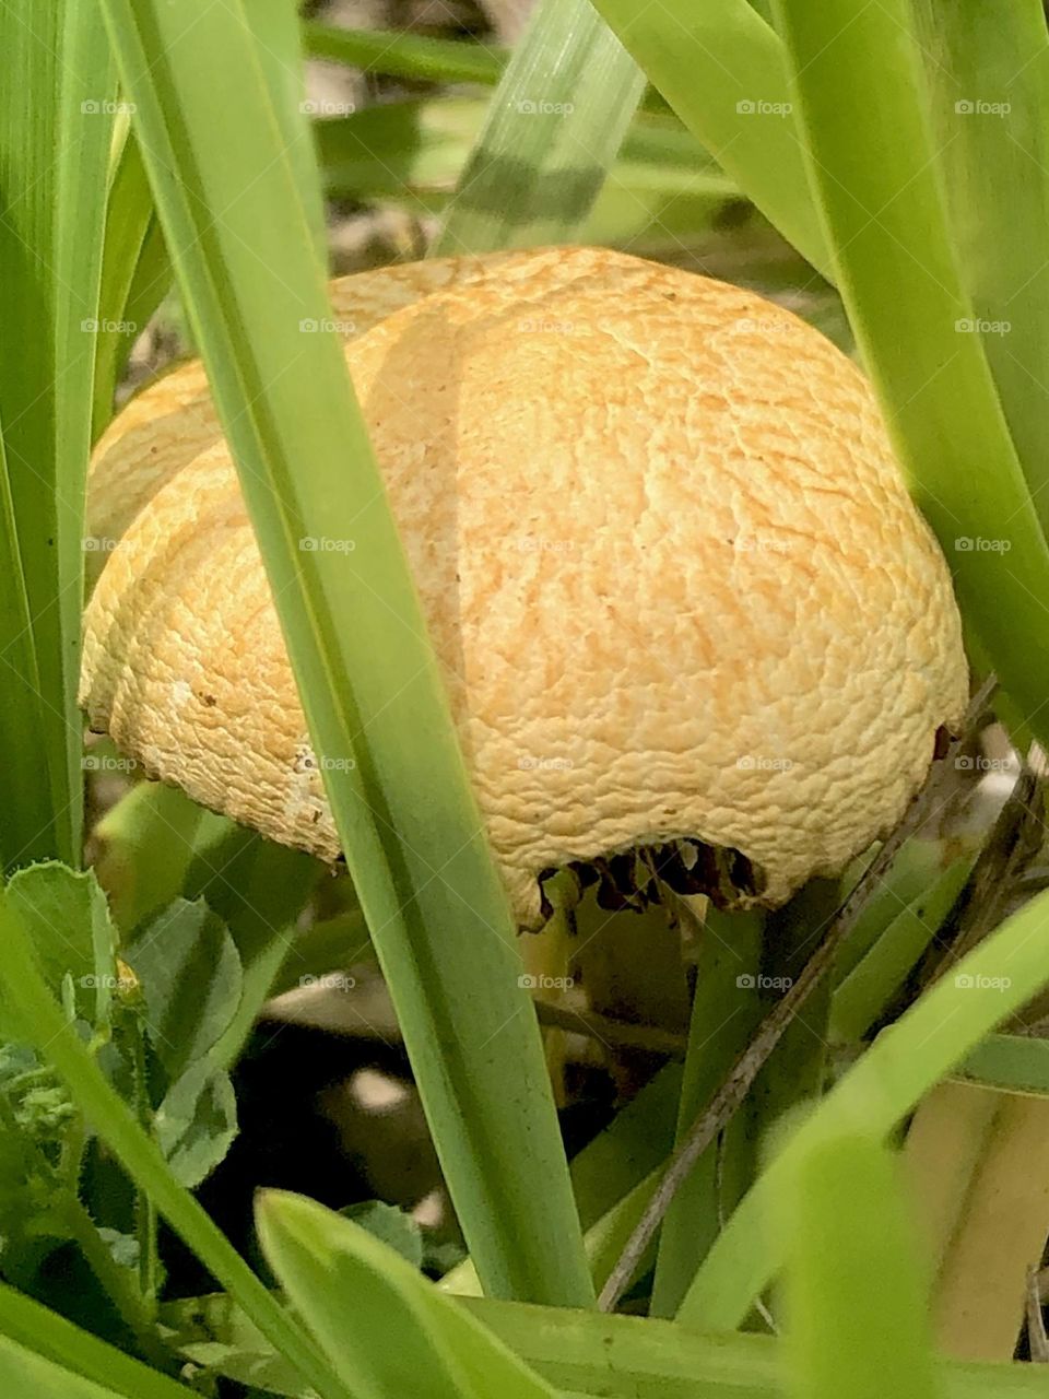
<path fill-rule="evenodd" d="M 29 937 L 7 894 L 0 895 L 0 999 L 70 1090 L 101 1140 L 113 1151 L 136 1185 L 157 1205 L 171 1227 L 193 1249 L 217 1281 L 242 1307 L 270 1343 L 313 1385 L 322 1399 L 350 1399 L 298 1323 L 255 1276 L 210 1216 L 183 1189 L 159 1147 L 110 1087 L 76 1027 L 41 977 Z M 15 1391 L 18 1392 L 18 1391 Z"/>

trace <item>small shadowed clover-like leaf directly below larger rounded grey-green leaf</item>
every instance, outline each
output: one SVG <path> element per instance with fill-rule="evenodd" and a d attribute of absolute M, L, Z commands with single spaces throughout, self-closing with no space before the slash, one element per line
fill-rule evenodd
<path fill-rule="evenodd" d="M 175 1178 L 196 1189 L 225 1160 L 236 1136 L 229 1074 L 207 1059 L 197 1060 L 165 1093 L 154 1129 Z"/>

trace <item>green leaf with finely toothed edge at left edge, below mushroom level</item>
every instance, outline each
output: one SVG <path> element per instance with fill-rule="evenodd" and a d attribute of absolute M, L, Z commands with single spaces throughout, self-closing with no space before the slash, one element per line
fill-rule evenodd
<path fill-rule="evenodd" d="M 77 1013 L 102 1025 L 116 989 L 116 930 L 92 872 L 57 860 L 18 870 L 7 897 L 32 937 L 43 979 L 57 993 L 66 978 Z"/>

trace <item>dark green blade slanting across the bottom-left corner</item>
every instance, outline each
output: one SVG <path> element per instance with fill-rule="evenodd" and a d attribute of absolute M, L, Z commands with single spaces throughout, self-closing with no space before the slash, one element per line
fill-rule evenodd
<path fill-rule="evenodd" d="M 0 1284 L 0 1335 L 123 1399 L 189 1399 L 194 1392 L 6 1284 Z"/>

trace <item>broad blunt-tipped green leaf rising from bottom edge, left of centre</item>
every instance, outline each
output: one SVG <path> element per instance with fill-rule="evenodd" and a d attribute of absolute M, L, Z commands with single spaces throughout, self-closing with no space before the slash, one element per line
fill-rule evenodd
<path fill-rule="evenodd" d="M 298 1195 L 257 1206 L 266 1256 L 357 1399 L 552 1399 L 459 1302 L 365 1230 Z"/>

